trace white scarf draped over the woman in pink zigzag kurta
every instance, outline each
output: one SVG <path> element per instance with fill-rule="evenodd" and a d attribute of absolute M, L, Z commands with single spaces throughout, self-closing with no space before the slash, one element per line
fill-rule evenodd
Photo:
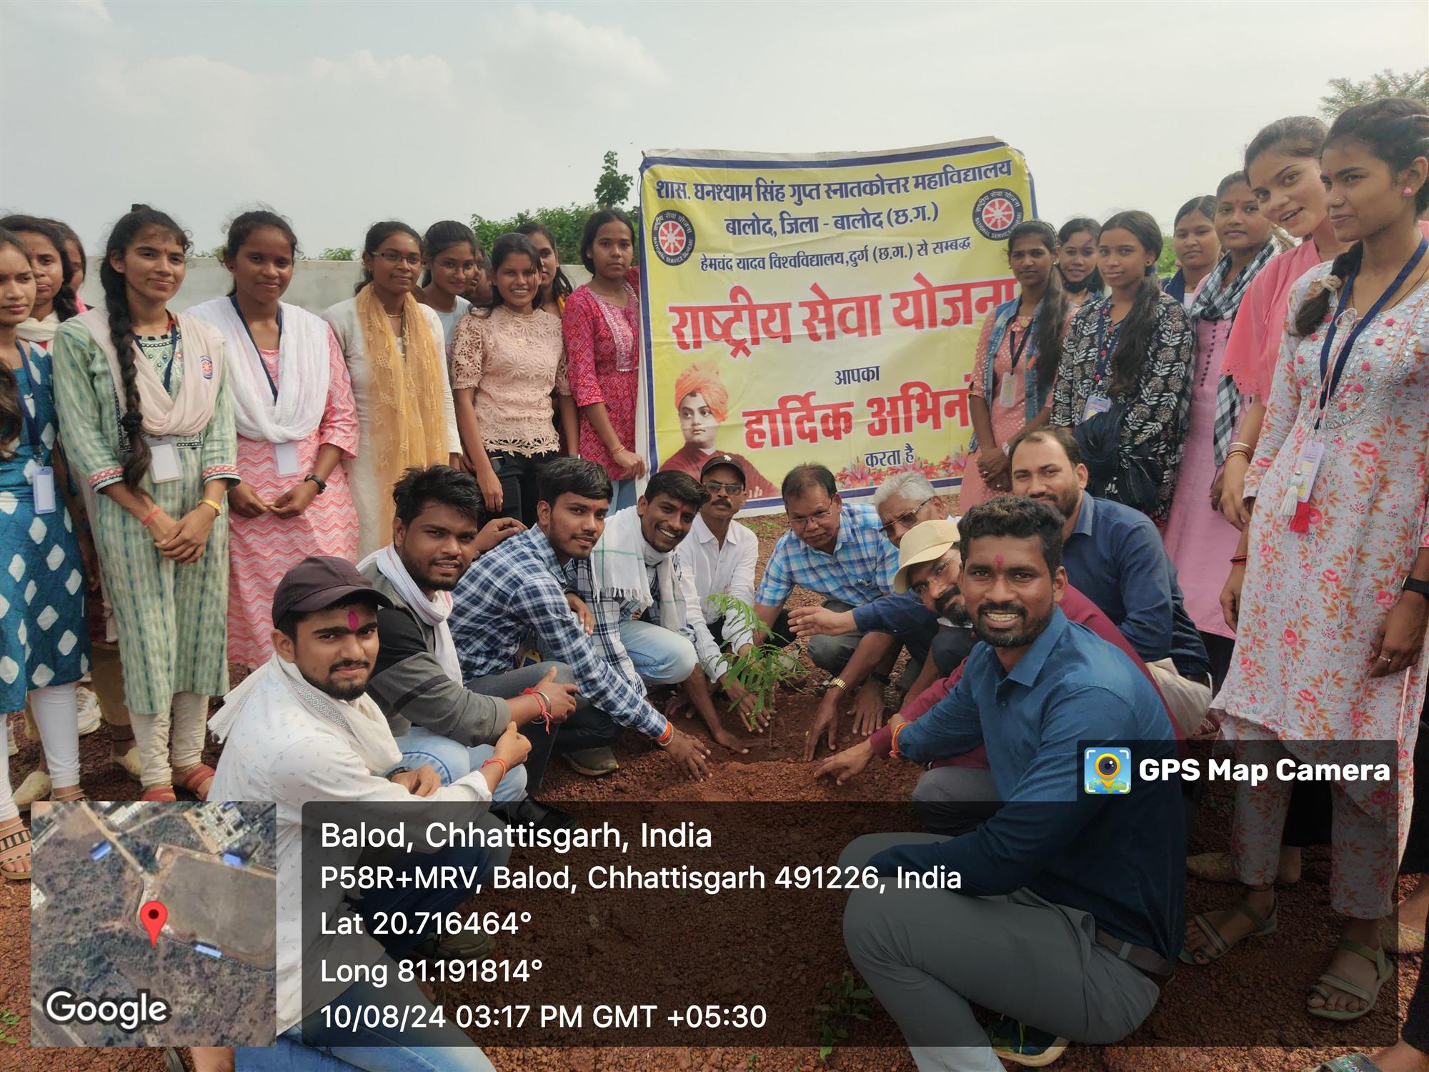
<path fill-rule="evenodd" d="M 233 423 L 246 439 L 269 443 L 302 442 L 312 436 L 327 409 L 327 322 L 306 309 L 280 302 L 283 330 L 279 339 L 282 383 L 277 400 L 269 386 L 263 356 L 227 297 L 201 302 L 189 310 L 223 333 L 229 353 L 229 387 Z"/>

